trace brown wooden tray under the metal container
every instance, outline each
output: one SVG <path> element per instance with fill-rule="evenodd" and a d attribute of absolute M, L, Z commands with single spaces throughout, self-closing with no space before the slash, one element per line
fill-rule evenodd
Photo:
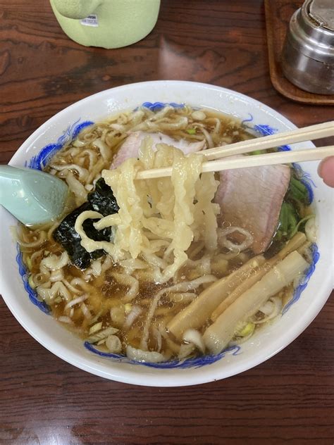
<path fill-rule="evenodd" d="M 270 77 L 273 86 L 283 96 L 304 104 L 334 105 L 334 94 L 314 94 L 296 87 L 287 80 L 280 68 L 280 54 L 292 14 L 303 0 L 264 0 Z"/>

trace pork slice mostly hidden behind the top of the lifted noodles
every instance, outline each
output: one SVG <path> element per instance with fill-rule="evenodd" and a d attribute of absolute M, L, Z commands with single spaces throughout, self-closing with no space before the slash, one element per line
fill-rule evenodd
<path fill-rule="evenodd" d="M 175 146 L 177 149 L 183 151 L 183 153 L 194 153 L 195 151 L 200 151 L 205 148 L 205 141 L 199 142 L 188 142 L 185 139 L 180 139 L 177 141 L 166 134 L 162 133 L 146 133 L 146 132 L 135 132 L 130 133 L 129 136 L 125 139 L 125 142 L 120 146 L 115 158 L 113 158 L 113 162 L 111 163 L 111 169 L 117 168 L 118 165 L 123 163 L 128 158 L 137 158 L 138 151 L 142 144 L 142 141 L 145 137 L 151 137 L 153 139 L 152 148 L 156 150 L 156 144 L 167 144 Z"/>

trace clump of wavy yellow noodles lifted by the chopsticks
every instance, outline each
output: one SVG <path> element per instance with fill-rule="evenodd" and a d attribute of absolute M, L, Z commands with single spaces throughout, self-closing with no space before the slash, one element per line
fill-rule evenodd
<path fill-rule="evenodd" d="M 192 241 L 204 240 L 206 249 L 217 245 L 219 206 L 212 203 L 218 182 L 214 173 L 200 174 L 202 156 L 185 156 L 182 151 L 159 144 L 151 149 L 151 139 L 142 143 L 139 159 L 130 158 L 116 170 L 103 170 L 102 177 L 113 190 L 119 211 L 94 223 L 99 230 L 115 227 L 113 243 L 89 239 L 82 229 L 87 218 L 98 214 L 85 212 L 78 217 L 76 230 L 87 251 L 104 249 L 113 261 L 143 256 L 161 268 L 156 276 L 167 282 L 187 261 Z M 171 177 L 135 180 L 140 170 L 172 167 Z"/>

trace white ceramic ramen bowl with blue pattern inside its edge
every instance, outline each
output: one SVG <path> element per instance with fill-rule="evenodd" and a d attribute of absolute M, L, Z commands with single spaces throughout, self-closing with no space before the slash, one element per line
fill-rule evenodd
<path fill-rule="evenodd" d="M 136 108 L 144 102 L 187 103 L 192 106 L 214 108 L 247 120 L 247 125 L 262 134 L 295 128 L 282 115 L 268 106 L 237 92 L 207 84 L 179 81 L 157 81 L 130 84 L 89 96 L 69 106 L 39 127 L 18 149 L 11 165 L 36 165 L 50 150 L 56 150 L 73 137 L 85 122 L 97 122 L 111 113 Z M 51 146 L 50 146 L 51 144 Z M 293 149 L 307 148 L 311 143 L 295 144 Z M 47 146 L 47 149 L 42 149 Z M 39 154 L 42 151 L 42 155 Z M 36 158 L 37 156 L 37 158 Z M 31 159 L 34 158 L 31 163 Z M 316 174 L 316 163 L 304 163 L 304 179 L 312 182 L 314 208 L 318 223 L 318 261 L 306 288 L 295 295 L 295 303 L 273 325 L 268 325 L 247 343 L 235 347 L 219 357 L 209 357 L 191 363 L 155 365 L 129 363 L 104 358 L 88 351 L 82 341 L 65 330 L 51 316 L 43 313 L 25 290 L 20 276 L 17 246 L 10 227 L 16 220 L 0 209 L 1 216 L 1 293 L 18 322 L 40 344 L 63 360 L 82 370 L 111 380 L 147 386 L 184 386 L 211 382 L 252 368 L 290 344 L 316 317 L 332 289 L 333 263 L 332 191 L 324 186 Z M 22 268 L 21 271 L 23 272 Z M 305 287 L 305 286 L 303 286 Z M 33 299 L 33 297 L 32 297 Z M 316 354 L 316 351 L 310 351 Z"/>

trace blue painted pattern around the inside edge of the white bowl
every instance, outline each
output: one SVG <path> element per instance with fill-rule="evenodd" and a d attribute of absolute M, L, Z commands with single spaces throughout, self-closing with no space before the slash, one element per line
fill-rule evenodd
<path fill-rule="evenodd" d="M 173 102 L 171 103 L 144 102 L 142 104 L 142 106 L 149 108 L 149 110 L 151 111 L 159 111 L 164 106 L 167 105 L 173 106 L 174 108 L 183 108 L 185 106 L 185 104 L 175 104 Z M 61 136 L 58 137 L 57 141 L 54 144 L 48 144 L 47 146 L 44 146 L 43 149 L 39 151 L 37 156 L 33 156 L 28 163 L 25 163 L 25 165 L 30 168 L 35 168 L 36 170 L 43 170 L 46 167 L 47 163 L 49 163 L 52 156 L 54 156 L 57 151 L 61 150 L 63 146 L 65 146 L 69 142 L 73 141 L 73 139 L 75 139 L 80 133 L 80 131 L 82 131 L 85 127 L 89 127 L 90 125 L 94 124 L 90 120 L 85 120 L 83 122 L 80 122 L 80 120 L 81 118 L 79 118 L 72 125 L 69 125 L 68 128 L 63 132 L 63 134 L 61 134 Z M 252 114 L 249 113 L 249 117 L 242 120 L 242 125 L 245 125 L 245 127 L 248 127 L 249 130 L 256 132 L 256 134 L 261 134 L 262 136 L 266 136 L 268 134 L 275 134 L 276 132 L 278 132 L 276 128 L 273 128 L 270 125 L 258 125 L 258 124 L 252 125 L 253 120 L 254 118 Z M 290 146 L 288 145 L 280 146 L 278 147 L 278 150 L 288 151 L 290 150 Z M 315 187 L 315 184 L 311 180 L 311 176 L 309 175 L 309 173 L 304 172 L 304 170 L 302 170 L 299 164 L 294 163 L 293 165 L 294 168 L 297 170 L 299 179 L 303 182 L 305 187 L 307 187 L 307 190 L 309 192 L 309 201 L 311 203 L 314 198 L 312 187 Z M 30 287 L 30 284 L 28 282 L 27 268 L 23 263 L 23 255 L 20 252 L 19 245 L 17 245 L 17 249 L 18 249 L 18 254 L 16 256 L 16 261 L 18 263 L 18 270 L 20 276 L 22 277 L 23 286 L 27 291 L 30 301 L 44 313 L 50 314 L 50 309 L 47 306 L 47 304 L 44 301 L 40 301 L 37 297 L 37 292 L 35 292 L 35 290 L 32 289 L 32 287 Z M 302 282 L 300 282 L 298 287 L 295 289 L 292 299 L 283 308 L 282 315 L 284 315 L 289 310 L 292 304 L 296 303 L 296 301 L 299 300 L 303 290 L 307 287 L 307 283 L 309 282 L 312 273 L 315 270 L 316 263 L 319 259 L 319 253 L 316 244 L 312 244 L 311 252 L 312 252 L 312 263 L 309 266 L 307 272 L 305 272 Z M 144 362 L 132 361 L 128 357 L 120 354 L 99 351 L 99 349 L 97 349 L 94 345 L 88 343 L 88 341 L 84 342 L 84 346 L 88 351 L 95 353 L 102 358 L 108 358 L 109 360 L 120 361 L 122 363 L 130 363 L 132 365 L 144 365 L 149 368 L 163 368 L 163 369 L 200 368 L 204 365 L 210 365 L 212 363 L 215 363 L 216 361 L 221 360 L 221 358 L 224 358 L 227 355 L 236 356 L 242 353 L 242 346 L 236 345 L 236 346 L 230 346 L 221 353 L 216 355 L 190 357 L 183 360 L 175 359 L 173 361 L 168 361 L 166 363 L 144 363 Z"/>

